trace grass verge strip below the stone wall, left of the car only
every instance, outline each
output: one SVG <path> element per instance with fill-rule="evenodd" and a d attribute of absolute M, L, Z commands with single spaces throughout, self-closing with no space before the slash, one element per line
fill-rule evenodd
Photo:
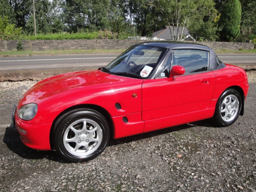
<path fill-rule="evenodd" d="M 88 54 L 88 53 L 121 53 L 125 49 L 72 49 L 47 51 L 6 51 L 0 52 L 0 57 L 34 56 L 34 55 L 61 55 L 61 54 Z"/>

